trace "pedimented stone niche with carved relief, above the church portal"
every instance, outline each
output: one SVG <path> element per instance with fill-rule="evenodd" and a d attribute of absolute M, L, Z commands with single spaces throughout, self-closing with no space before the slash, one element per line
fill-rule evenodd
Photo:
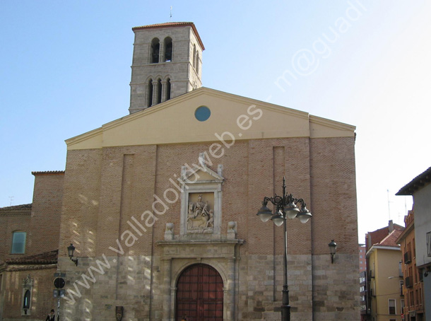
<path fill-rule="evenodd" d="M 220 238 L 221 201 L 224 178 L 206 167 L 203 154 L 199 166 L 182 167 L 180 238 Z"/>

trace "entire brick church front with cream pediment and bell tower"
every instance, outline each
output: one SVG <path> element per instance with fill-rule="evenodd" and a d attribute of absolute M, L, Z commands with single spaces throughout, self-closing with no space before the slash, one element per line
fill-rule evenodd
<path fill-rule="evenodd" d="M 61 314 L 277 320 L 283 228 L 256 213 L 285 177 L 312 212 L 287 221 L 292 320 L 359 320 L 355 127 L 202 88 L 193 23 L 134 33 L 131 115 L 66 141 Z"/>

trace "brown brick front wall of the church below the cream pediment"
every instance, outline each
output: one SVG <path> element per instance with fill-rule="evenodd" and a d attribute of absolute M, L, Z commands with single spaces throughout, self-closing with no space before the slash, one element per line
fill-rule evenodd
<path fill-rule="evenodd" d="M 198 164 L 199 153 L 208 151 L 210 145 L 69 151 L 64 178 L 60 240 L 64 252 L 60 251 L 63 257 L 60 268 L 68 271 L 69 286 L 72 286 L 73 278 L 80 278 L 95 259 L 102 260 L 102 255 L 112 264 L 93 287 L 85 290 L 85 298 L 98 306 L 85 313 L 110 315 L 112 298 L 117 305 L 127 305 L 131 320 L 146 320 L 148 313 L 158 318 L 161 309 L 166 311 L 165 292 L 170 293 L 172 285 L 166 284 L 167 262 L 163 259 L 163 247 L 157 243 L 164 240 L 166 223 L 174 223 L 174 234 L 179 235 L 180 198 L 168 204 L 165 214 L 155 214 L 157 221 L 146 231 L 141 230 L 141 235 L 129 223 L 133 218 L 141 221 L 141 214 L 153 211 L 154 194 L 163 199 L 164 192 L 173 187 L 170 178 L 179 177 L 185 163 Z M 231 148 L 225 148 L 223 157 L 208 161 L 213 162 L 210 167 L 215 171 L 222 164 L 225 177 L 220 238 L 226 238 L 228 222 L 236 221 L 237 238 L 245 241 L 239 245 L 238 261 L 235 261 L 238 320 L 279 317 L 283 227 L 261 222 L 256 212 L 264 196 L 281 194 L 283 175 L 288 192 L 305 199 L 313 214 L 306 224 L 288 221 L 293 320 L 312 320 L 313 315 L 321 315 L 325 320 L 356 320 L 359 294 L 354 139 L 236 141 Z M 171 199 L 174 197 L 170 194 Z M 158 204 L 157 209 L 162 211 L 163 207 Z M 334 264 L 328 247 L 332 239 L 338 243 L 338 260 Z M 78 264 L 78 268 L 66 257 L 65 248 L 71 242 L 77 245 L 77 256 L 83 264 Z M 119 245 L 123 253 L 110 249 L 119 251 Z M 172 267 L 179 268 L 175 262 L 174 259 Z M 218 264 L 220 271 L 230 269 L 228 260 L 219 260 Z M 145 291 L 136 290 L 136 286 Z M 149 296 L 151 291 L 153 297 Z M 84 302 L 84 297 L 80 300 Z M 145 302 L 148 310 L 136 309 L 131 302 Z M 80 308 L 68 310 L 75 316 L 87 309 L 77 304 Z"/>

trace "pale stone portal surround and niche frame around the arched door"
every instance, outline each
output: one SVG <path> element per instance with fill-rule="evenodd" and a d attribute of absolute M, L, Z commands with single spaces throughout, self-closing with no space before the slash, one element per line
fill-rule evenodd
<path fill-rule="evenodd" d="M 162 247 L 160 272 L 163 276 L 159 293 L 164 321 L 175 320 L 177 280 L 185 268 L 196 263 L 208 264 L 220 274 L 223 279 L 223 320 L 237 320 L 239 247 L 244 240 L 236 237 L 237 222 L 228 222 L 226 234 L 221 233 L 223 166 L 218 165 L 215 173 L 206 166 L 204 153 L 199 154 L 199 165 L 197 168 L 182 167 L 179 235 L 174 235 L 174 223 L 166 223 L 165 240 L 157 242 Z M 201 197 L 202 194 L 206 199 Z M 189 206 L 196 196 L 201 197 L 201 201 L 210 201 L 211 228 L 194 230 L 187 225 Z"/>

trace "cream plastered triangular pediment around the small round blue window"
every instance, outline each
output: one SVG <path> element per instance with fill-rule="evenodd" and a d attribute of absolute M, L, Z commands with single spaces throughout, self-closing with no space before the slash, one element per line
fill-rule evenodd
<path fill-rule="evenodd" d="M 211 110 L 203 122 L 194 113 Z M 354 136 L 355 127 L 209 88 L 199 88 L 66 140 L 69 150 L 230 139 Z"/>

